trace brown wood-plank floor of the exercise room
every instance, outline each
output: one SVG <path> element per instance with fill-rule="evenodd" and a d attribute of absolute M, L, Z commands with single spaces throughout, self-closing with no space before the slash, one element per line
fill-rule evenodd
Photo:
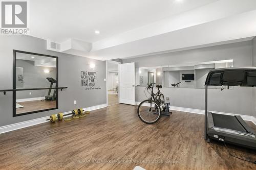
<path fill-rule="evenodd" d="M 256 169 L 203 139 L 204 115 L 173 111 L 146 125 L 136 109 L 117 104 L 71 122 L 0 134 L 0 169 Z M 228 147 L 256 160 L 255 151 Z"/>

